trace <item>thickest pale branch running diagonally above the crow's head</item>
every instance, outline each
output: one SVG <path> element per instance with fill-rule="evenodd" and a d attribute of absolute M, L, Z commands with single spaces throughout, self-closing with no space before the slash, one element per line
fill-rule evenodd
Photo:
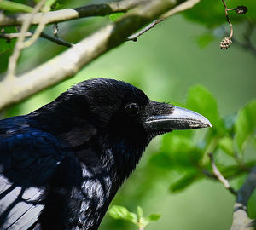
<path fill-rule="evenodd" d="M 73 75 L 106 53 L 109 49 L 119 46 L 126 41 L 126 37 L 136 32 L 148 22 L 158 18 L 161 14 L 175 7 L 177 0 L 156 1 L 148 0 L 146 3 L 132 9 L 115 23 L 102 27 L 90 37 L 73 45 L 61 55 L 47 61 L 41 66 L 21 75 L 19 78 L 6 79 L 0 84 L 0 109 L 15 102 L 26 99 L 42 89 L 59 83 Z"/>

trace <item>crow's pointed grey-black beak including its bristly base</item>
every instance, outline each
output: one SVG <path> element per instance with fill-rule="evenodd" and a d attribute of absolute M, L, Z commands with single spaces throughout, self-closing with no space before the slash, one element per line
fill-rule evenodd
<path fill-rule="evenodd" d="M 150 132 L 170 132 L 173 129 L 212 128 L 209 120 L 197 112 L 165 103 L 152 102 L 154 115 L 146 118 L 144 122 L 145 129 L 148 129 Z M 159 108 L 159 112 L 157 112 L 157 108 Z"/>

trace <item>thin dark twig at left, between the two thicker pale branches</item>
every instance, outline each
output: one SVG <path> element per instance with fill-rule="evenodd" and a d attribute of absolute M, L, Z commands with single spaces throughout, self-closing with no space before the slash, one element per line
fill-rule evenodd
<path fill-rule="evenodd" d="M 26 32 L 25 37 L 32 37 L 33 32 Z M 20 36 L 20 32 L 14 32 L 14 33 L 0 33 L 0 38 L 6 39 L 6 40 L 11 40 L 18 38 Z M 60 37 L 51 37 L 48 34 L 41 32 L 40 37 L 43 37 L 53 43 L 57 43 L 59 45 L 67 46 L 67 47 L 72 47 L 73 43 L 69 43 L 67 41 L 62 40 Z"/>

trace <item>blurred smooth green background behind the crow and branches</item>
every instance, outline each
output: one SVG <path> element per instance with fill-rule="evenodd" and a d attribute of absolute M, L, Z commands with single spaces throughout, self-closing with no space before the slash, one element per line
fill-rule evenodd
<path fill-rule="evenodd" d="M 218 101 L 221 116 L 236 113 L 241 106 L 256 97 L 256 55 L 236 43 L 228 50 L 219 49 L 219 42 L 223 37 L 218 37 L 218 34 L 223 32 L 223 28 L 229 31 L 224 8 L 219 2 L 218 9 L 222 11 L 217 19 L 224 26 L 218 25 L 216 29 L 213 22 L 207 26 L 204 25 L 206 21 L 194 22 L 191 20 L 193 14 L 186 17 L 175 15 L 139 37 L 136 43 L 126 42 L 119 48 L 112 49 L 85 66 L 74 78 L 10 107 L 3 112 L 3 117 L 32 112 L 55 99 L 73 83 L 97 77 L 124 80 L 143 89 L 154 101 L 171 102 L 175 105 L 185 104 L 189 88 L 201 84 Z M 82 3 L 70 1 L 63 3 L 63 8 L 67 5 L 74 7 Z M 207 15 L 213 17 L 208 9 Z M 232 20 L 231 16 L 230 19 Z M 75 43 L 107 22 L 108 17 L 62 23 L 59 25 L 59 36 Z M 246 22 L 235 23 L 235 36 L 238 39 L 242 37 L 245 26 Z M 48 26 L 47 30 L 50 32 L 51 27 Z M 253 32 L 252 42 L 256 45 L 255 37 Z M 208 43 L 209 40 L 211 43 Z M 25 72 L 63 49 L 65 48 L 40 39 L 32 48 L 22 53 L 19 71 Z M 6 51 L 0 55 L 1 72 L 6 69 L 9 54 L 10 51 Z M 205 130 L 195 132 L 200 136 Z M 172 135 L 169 134 L 171 138 Z M 152 163 L 155 152 L 159 153 L 162 139 L 160 136 L 150 143 L 137 170 L 125 181 L 112 204 L 124 205 L 131 211 L 136 211 L 137 205 L 140 205 L 146 215 L 151 212 L 160 213 L 160 220 L 149 225 L 148 230 L 229 229 L 235 198 L 220 183 L 203 179 L 181 193 L 169 192 L 171 181 L 175 181 L 180 173 Z M 248 154 L 256 159 L 255 152 L 254 155 L 252 151 Z M 220 153 L 220 160 L 222 157 L 225 160 Z M 252 200 L 256 202 L 255 193 Z M 113 220 L 107 214 L 100 229 L 132 230 L 137 227 L 125 221 Z"/>

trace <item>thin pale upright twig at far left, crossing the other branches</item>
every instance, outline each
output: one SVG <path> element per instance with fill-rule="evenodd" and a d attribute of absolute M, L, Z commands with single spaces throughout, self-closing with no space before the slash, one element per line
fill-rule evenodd
<path fill-rule="evenodd" d="M 23 49 L 23 41 L 26 37 L 26 32 L 31 25 L 32 18 L 34 14 L 37 14 L 38 11 L 44 6 L 44 3 L 47 0 L 41 0 L 35 8 L 32 10 L 31 14 L 27 14 L 26 20 L 24 20 L 21 29 L 20 29 L 20 36 L 18 37 L 17 43 L 15 44 L 14 53 L 9 57 L 9 65 L 8 65 L 8 71 L 7 71 L 7 77 L 6 78 L 14 78 L 15 77 L 15 70 L 17 66 L 17 61 L 20 57 L 21 49 Z"/>

